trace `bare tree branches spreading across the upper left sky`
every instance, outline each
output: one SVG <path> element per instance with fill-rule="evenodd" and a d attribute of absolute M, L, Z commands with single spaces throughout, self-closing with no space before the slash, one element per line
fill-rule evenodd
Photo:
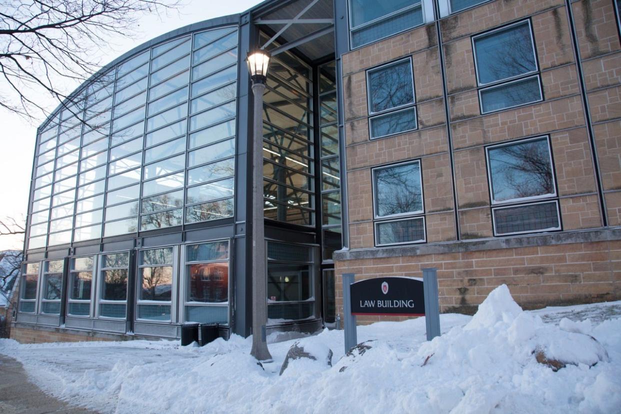
<path fill-rule="evenodd" d="M 93 56 L 110 38 L 132 36 L 138 17 L 180 0 L 4 0 L 0 6 L 0 107 L 35 120 L 47 97 L 83 119 L 84 96 L 67 86 L 99 70 Z M 73 88 L 68 88 L 73 89 Z"/>

